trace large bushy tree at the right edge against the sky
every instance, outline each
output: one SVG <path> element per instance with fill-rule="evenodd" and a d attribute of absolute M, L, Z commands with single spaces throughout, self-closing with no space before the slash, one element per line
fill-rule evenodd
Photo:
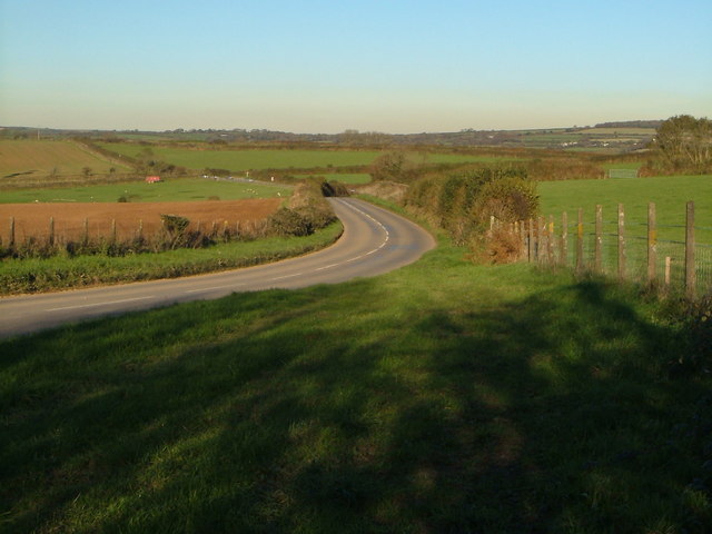
<path fill-rule="evenodd" d="M 675 170 L 704 172 L 712 168 L 712 120 L 679 115 L 663 121 L 654 140 Z"/>

